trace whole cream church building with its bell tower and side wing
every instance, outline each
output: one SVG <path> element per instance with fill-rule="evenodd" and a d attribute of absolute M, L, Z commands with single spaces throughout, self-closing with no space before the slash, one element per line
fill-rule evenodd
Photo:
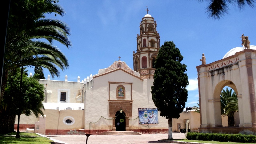
<path fill-rule="evenodd" d="M 137 47 L 133 51 L 133 69 L 119 60 L 82 81 L 79 76 L 77 82 L 69 82 L 67 76 L 65 81 L 50 80 L 49 75 L 46 80 L 40 79 L 39 82 L 45 86 L 44 117 L 21 116 L 20 129 L 31 127 L 35 133 L 41 134 L 168 133 L 168 120 L 160 113 L 150 113 L 157 115 L 157 122 L 150 123 L 148 119 L 148 123 L 141 123 L 139 120 L 139 109 L 156 109 L 151 86 L 155 71 L 153 63 L 160 49 L 154 18 L 146 14 L 139 27 Z M 145 119 L 147 117 L 144 116 Z M 184 119 L 189 119 L 189 116 Z M 173 123 L 173 131 L 180 132 L 179 120 Z M 198 131 L 198 127 L 199 124 L 192 121 L 186 129 Z"/>

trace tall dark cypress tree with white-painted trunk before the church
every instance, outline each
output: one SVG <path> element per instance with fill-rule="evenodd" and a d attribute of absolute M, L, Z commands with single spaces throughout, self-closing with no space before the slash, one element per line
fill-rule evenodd
<path fill-rule="evenodd" d="M 180 117 L 188 97 L 187 66 L 182 59 L 180 50 L 170 41 L 164 42 L 155 61 L 152 100 L 160 116 L 168 119 L 168 139 L 172 139 L 172 119 Z"/>

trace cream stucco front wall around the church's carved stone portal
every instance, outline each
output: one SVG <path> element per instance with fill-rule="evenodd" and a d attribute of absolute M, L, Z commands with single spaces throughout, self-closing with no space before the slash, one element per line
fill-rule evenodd
<path fill-rule="evenodd" d="M 109 84 L 109 82 L 132 83 L 122 84 L 126 90 L 125 99 L 116 98 L 116 87 L 119 84 Z M 110 92 L 109 92 L 110 85 Z M 129 126 L 132 129 L 148 129 L 139 125 L 138 108 L 156 108 L 151 97 L 151 86 L 153 79 L 140 79 L 137 76 L 117 70 L 105 75 L 93 78 L 93 88 L 85 92 L 85 129 L 101 129 L 107 126 L 113 126 L 112 117 L 109 116 L 109 94 L 110 100 L 133 100 L 132 117 L 129 117 Z M 132 87 L 132 92 L 131 92 Z M 120 109 L 118 109 L 120 110 Z M 116 112 L 118 111 L 116 110 Z M 122 109 L 125 112 L 125 109 Z M 159 115 L 159 124 L 149 125 L 149 129 L 168 129 L 168 120 Z M 103 116 L 104 118 L 100 117 Z M 100 120 L 99 120 L 100 119 Z M 99 120 L 99 122 L 97 122 Z M 95 123 L 97 122 L 97 123 Z M 95 124 L 92 124 L 95 123 Z M 109 127 L 107 127 L 109 129 Z"/>

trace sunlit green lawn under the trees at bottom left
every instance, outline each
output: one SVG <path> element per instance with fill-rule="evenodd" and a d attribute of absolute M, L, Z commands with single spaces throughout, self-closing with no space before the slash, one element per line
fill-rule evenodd
<path fill-rule="evenodd" d="M 4 144 L 49 144 L 50 141 L 49 138 L 41 137 L 37 135 L 36 133 L 27 133 L 27 132 L 21 132 L 20 133 L 20 139 L 16 139 L 15 136 L 16 133 L 10 133 L 8 134 L 10 136 L 0 136 L 0 143 Z M 34 136 L 34 137 L 22 137 L 22 136 Z M 35 137 L 36 136 L 36 137 Z"/>

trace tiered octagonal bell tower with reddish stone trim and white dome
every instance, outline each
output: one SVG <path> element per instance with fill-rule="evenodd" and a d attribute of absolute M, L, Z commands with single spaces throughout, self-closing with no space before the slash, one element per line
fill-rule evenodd
<path fill-rule="evenodd" d="M 156 31 L 156 21 L 148 14 L 140 22 L 140 34 L 137 34 L 137 50 L 133 51 L 133 70 L 140 73 L 140 78 L 153 78 L 154 62 L 160 48 L 160 36 Z"/>

